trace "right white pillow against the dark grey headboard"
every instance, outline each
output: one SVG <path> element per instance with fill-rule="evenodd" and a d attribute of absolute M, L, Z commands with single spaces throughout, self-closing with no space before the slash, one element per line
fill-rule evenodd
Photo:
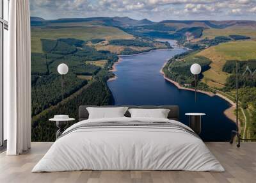
<path fill-rule="evenodd" d="M 167 118 L 170 109 L 129 109 L 131 118 Z"/>

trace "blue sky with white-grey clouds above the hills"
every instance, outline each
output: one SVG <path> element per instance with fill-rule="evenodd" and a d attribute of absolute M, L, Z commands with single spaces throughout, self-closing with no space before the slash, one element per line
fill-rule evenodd
<path fill-rule="evenodd" d="M 44 19 L 256 20 L 256 0 L 30 0 L 30 8 Z"/>

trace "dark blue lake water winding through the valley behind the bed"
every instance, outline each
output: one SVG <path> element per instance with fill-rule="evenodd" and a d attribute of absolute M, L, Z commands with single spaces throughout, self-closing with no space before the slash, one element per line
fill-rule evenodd
<path fill-rule="evenodd" d="M 236 128 L 223 114 L 230 104 L 220 97 L 202 93 L 197 93 L 195 102 L 195 92 L 179 90 L 159 72 L 167 60 L 185 51 L 175 47 L 172 50 L 120 56 L 122 61 L 116 65 L 115 72 L 118 78 L 108 82 L 115 105 L 178 105 L 180 122 L 186 125 L 189 118 L 185 113 L 206 113 L 202 117 L 200 137 L 204 141 L 228 141 L 230 132 Z"/>

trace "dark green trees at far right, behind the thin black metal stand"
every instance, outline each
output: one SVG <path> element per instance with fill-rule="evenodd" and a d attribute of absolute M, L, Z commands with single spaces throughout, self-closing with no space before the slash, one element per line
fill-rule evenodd
<path fill-rule="evenodd" d="M 239 107 L 244 110 L 248 117 L 247 128 L 242 132 L 246 132 L 246 136 L 250 138 L 256 138 L 256 60 L 252 62 L 238 63 L 238 97 Z M 227 83 L 223 91 L 230 93 L 230 95 L 236 94 L 236 61 L 227 61 L 223 67 L 223 71 L 230 74 L 227 78 Z M 241 115 L 243 116 L 243 115 Z M 240 120 L 243 122 L 243 117 L 240 116 Z"/>

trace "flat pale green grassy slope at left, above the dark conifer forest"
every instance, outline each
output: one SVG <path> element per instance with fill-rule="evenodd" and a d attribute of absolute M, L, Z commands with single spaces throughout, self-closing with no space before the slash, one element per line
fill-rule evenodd
<path fill-rule="evenodd" d="M 65 28 L 40 28 L 31 27 L 31 52 L 42 52 L 41 38 L 58 39 L 58 38 L 76 38 L 79 40 L 92 40 L 93 38 L 111 39 L 131 39 L 132 35 L 124 31 L 105 26 L 92 27 L 65 27 Z"/>

